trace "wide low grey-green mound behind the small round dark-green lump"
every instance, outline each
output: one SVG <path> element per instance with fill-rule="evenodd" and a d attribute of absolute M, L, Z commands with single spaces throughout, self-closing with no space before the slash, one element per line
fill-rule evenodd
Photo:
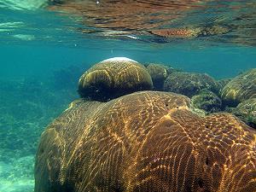
<path fill-rule="evenodd" d="M 195 96 L 203 89 L 218 93 L 220 85 L 207 74 L 187 72 L 171 73 L 164 84 L 164 90 L 189 97 Z"/>

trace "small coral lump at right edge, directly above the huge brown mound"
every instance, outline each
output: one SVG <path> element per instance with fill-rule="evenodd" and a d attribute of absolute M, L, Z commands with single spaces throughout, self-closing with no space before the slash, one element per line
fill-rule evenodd
<path fill-rule="evenodd" d="M 256 128 L 256 98 L 239 103 L 236 108 L 231 110 L 231 112 L 247 125 Z"/>

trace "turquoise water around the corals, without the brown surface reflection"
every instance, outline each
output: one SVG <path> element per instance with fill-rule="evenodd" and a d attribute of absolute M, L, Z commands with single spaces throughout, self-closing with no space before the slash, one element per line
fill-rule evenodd
<path fill-rule="evenodd" d="M 33 163 L 40 134 L 69 102 L 79 97 L 79 76 L 98 61 L 125 56 L 142 63 L 157 62 L 207 73 L 215 79 L 232 78 L 256 67 L 256 19 L 249 9 L 255 3 L 246 2 L 243 5 L 248 7 L 242 7 L 239 14 L 248 18 L 247 22 L 241 25 L 237 19 L 232 25 L 241 32 L 232 28 L 233 33 L 209 37 L 165 38 L 144 34 L 148 32 L 144 26 L 137 31 L 128 24 L 116 30 L 111 22 L 107 22 L 112 26 L 107 29 L 97 22 L 87 22 L 86 26 L 81 15 L 48 9 L 47 1 L 0 0 L 0 192 L 33 191 Z M 234 7 L 241 4 L 237 1 Z M 180 25 L 188 26 L 193 20 L 197 23 L 203 16 L 211 24 L 226 16 L 216 19 L 213 15 L 211 20 L 211 12 L 207 8 L 204 11 L 206 15 L 195 12 L 194 19 Z M 222 22 L 225 26 L 229 20 Z M 82 32 L 81 28 L 93 32 Z M 120 35 L 120 31 L 128 33 Z"/>

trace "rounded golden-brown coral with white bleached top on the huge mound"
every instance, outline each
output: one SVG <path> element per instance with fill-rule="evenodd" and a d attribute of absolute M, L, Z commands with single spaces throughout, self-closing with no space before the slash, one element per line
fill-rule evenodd
<path fill-rule="evenodd" d="M 152 87 L 147 69 L 125 57 L 101 61 L 79 79 L 79 95 L 102 102 L 138 90 L 151 90 Z"/>

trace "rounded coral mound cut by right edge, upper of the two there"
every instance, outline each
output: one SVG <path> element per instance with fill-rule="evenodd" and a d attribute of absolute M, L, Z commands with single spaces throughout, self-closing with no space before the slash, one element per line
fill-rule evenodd
<path fill-rule="evenodd" d="M 221 97 L 230 106 L 236 106 L 239 102 L 256 98 L 256 68 L 231 79 L 224 86 Z"/>

